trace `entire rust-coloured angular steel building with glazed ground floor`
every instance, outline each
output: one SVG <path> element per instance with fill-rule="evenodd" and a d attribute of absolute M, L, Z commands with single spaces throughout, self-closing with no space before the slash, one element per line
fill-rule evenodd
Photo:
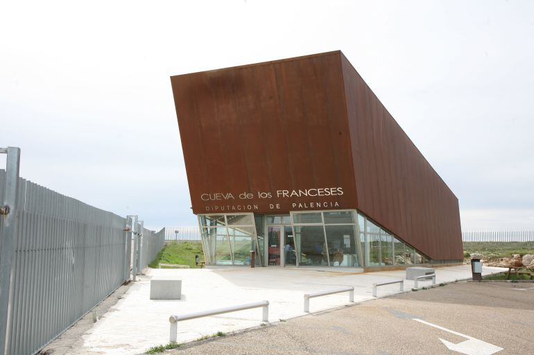
<path fill-rule="evenodd" d="M 462 260 L 458 199 L 341 51 L 171 84 L 208 264 Z"/>

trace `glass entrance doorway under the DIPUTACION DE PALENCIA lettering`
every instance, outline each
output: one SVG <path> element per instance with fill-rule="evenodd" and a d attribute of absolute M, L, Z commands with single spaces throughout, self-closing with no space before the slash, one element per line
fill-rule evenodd
<path fill-rule="evenodd" d="M 296 266 L 297 253 L 291 226 L 267 227 L 268 266 Z"/>

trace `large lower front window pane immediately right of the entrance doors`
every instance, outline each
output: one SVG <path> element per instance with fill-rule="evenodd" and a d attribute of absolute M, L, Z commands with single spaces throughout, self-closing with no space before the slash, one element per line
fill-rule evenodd
<path fill-rule="evenodd" d="M 300 265 L 328 265 L 325 231 L 322 226 L 295 226 Z"/>

